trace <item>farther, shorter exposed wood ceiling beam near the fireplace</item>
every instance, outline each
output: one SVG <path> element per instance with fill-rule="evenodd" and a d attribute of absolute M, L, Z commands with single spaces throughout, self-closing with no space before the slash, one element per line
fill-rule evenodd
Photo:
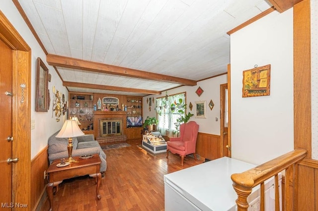
<path fill-rule="evenodd" d="M 98 85 L 98 84 L 86 84 L 86 83 L 77 83 L 77 82 L 71 82 L 71 81 L 64 81 L 63 86 L 87 88 L 87 89 L 112 90 L 112 91 L 120 91 L 120 92 L 144 93 L 144 94 L 149 94 L 149 95 L 160 95 L 161 94 L 160 91 L 154 91 L 154 90 L 114 87 L 114 86 L 106 86 L 106 85 Z"/>

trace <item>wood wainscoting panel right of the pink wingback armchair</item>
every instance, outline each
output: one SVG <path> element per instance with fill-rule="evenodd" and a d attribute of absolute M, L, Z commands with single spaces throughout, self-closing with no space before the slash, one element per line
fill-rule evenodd
<path fill-rule="evenodd" d="M 200 159 L 217 159 L 220 158 L 220 143 L 221 137 L 219 135 L 213 135 L 208 133 L 198 133 L 196 154 L 200 156 Z"/>

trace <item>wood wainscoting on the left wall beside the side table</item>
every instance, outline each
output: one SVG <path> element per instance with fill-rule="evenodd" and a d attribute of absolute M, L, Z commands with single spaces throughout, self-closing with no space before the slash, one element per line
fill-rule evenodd
<path fill-rule="evenodd" d="M 31 210 L 35 210 L 41 205 L 43 194 L 46 195 L 47 179 L 44 179 L 44 171 L 48 168 L 48 146 L 31 160 Z M 45 198 L 44 198 L 45 199 Z M 39 206 L 41 207 L 41 206 Z"/>

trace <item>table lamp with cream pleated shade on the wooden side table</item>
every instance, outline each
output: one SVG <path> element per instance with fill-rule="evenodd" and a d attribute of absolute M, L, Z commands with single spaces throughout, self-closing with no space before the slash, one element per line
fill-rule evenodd
<path fill-rule="evenodd" d="M 64 122 L 64 125 L 60 132 L 55 136 L 57 138 L 69 138 L 68 144 L 68 152 L 69 152 L 69 160 L 68 162 L 76 161 L 72 158 L 72 150 L 73 150 L 73 143 L 72 137 L 82 136 L 84 133 L 79 129 L 79 125 L 76 120 L 67 119 Z"/>

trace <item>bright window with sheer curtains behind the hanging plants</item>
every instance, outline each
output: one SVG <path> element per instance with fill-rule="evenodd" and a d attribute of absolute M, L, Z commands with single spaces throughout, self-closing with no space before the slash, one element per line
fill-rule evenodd
<path fill-rule="evenodd" d="M 174 123 L 176 123 L 176 119 L 180 117 L 180 114 L 176 112 L 177 109 L 171 111 L 171 104 L 178 104 L 179 99 L 182 99 L 182 102 L 185 104 L 185 92 L 175 94 L 175 95 L 166 95 L 162 98 L 157 98 L 156 100 L 156 109 L 158 113 L 158 131 L 162 135 L 166 135 L 172 137 L 176 134 L 176 128 Z M 186 112 L 184 112 L 186 113 Z M 184 115 L 184 114 L 183 114 Z"/>

